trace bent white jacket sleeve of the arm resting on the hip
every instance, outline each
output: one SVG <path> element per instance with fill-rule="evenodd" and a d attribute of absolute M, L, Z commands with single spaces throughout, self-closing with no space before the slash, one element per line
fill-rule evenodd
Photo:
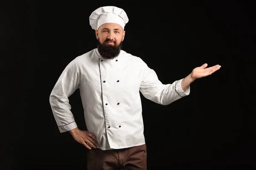
<path fill-rule="evenodd" d="M 52 113 L 61 133 L 77 127 L 68 97 L 80 87 L 78 59 L 71 61 L 58 78 L 49 97 Z"/>

